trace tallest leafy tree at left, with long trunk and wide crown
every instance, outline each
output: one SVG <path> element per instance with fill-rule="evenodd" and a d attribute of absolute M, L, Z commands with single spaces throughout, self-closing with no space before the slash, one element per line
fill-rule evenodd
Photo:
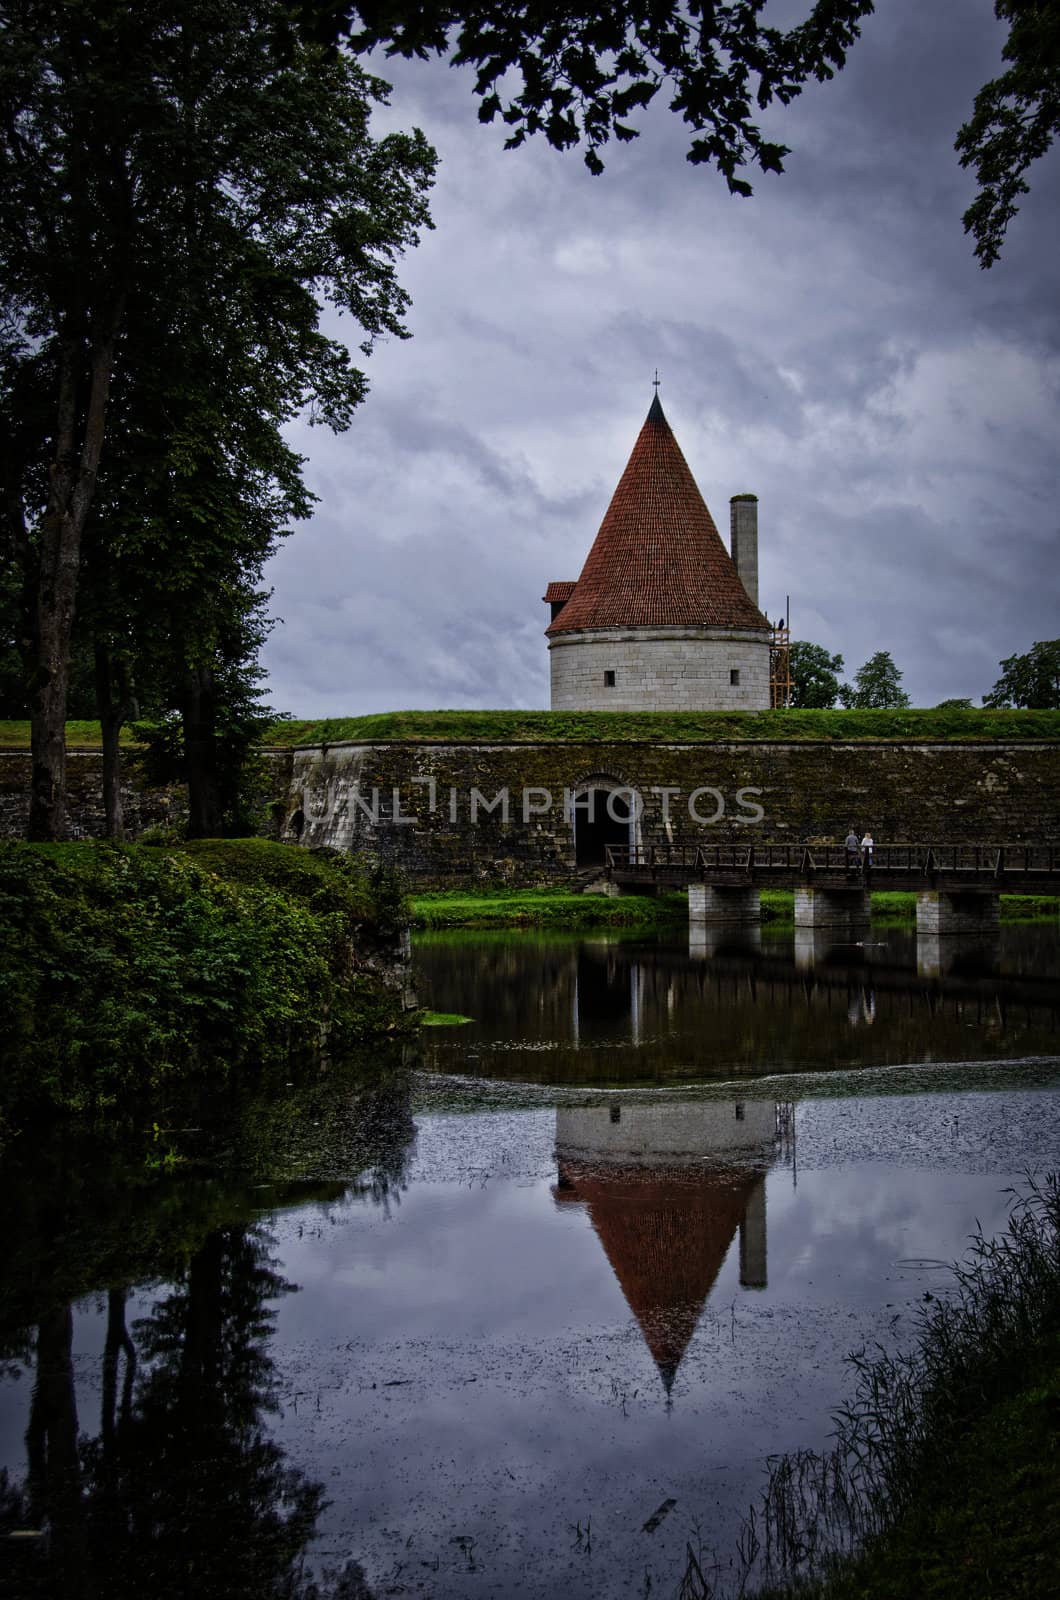
<path fill-rule="evenodd" d="M 355 317 L 362 350 L 405 333 L 394 262 L 428 226 L 434 157 L 421 134 L 370 136 L 384 86 L 280 0 L 0 0 L 0 21 L 5 550 L 35 602 L 30 837 L 54 838 L 83 538 L 112 392 L 147 376 L 138 331 L 175 349 L 240 325 L 282 394 L 275 426 L 304 406 L 346 426 L 365 381 L 320 301 Z M 21 437 L 19 389 L 43 438 Z"/>

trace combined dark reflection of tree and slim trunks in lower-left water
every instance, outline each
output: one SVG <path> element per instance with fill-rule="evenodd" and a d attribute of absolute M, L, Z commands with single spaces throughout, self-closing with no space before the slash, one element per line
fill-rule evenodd
<path fill-rule="evenodd" d="M 136 1322 L 138 1358 L 125 1293 L 109 1296 L 101 1430 L 80 1450 L 72 1314 L 42 1320 L 26 1485 L 0 1483 L 0 1525 L 48 1530 L 22 1552 L 19 1594 L 370 1600 L 352 1563 L 322 1586 L 303 1568 L 323 1488 L 263 1427 L 269 1302 L 293 1288 L 267 1245 L 261 1227 L 211 1234 Z"/>

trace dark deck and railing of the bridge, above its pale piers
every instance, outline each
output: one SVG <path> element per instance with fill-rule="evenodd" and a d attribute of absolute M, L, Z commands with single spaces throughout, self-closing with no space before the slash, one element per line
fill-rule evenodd
<path fill-rule="evenodd" d="M 607 875 L 628 888 L 711 883 L 1057 894 L 1060 845 L 877 845 L 871 859 L 842 845 L 608 845 Z"/>

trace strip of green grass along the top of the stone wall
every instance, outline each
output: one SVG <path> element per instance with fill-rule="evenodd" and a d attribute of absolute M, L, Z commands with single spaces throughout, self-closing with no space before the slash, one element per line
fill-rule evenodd
<path fill-rule="evenodd" d="M 69 722 L 66 738 L 70 746 L 96 747 L 99 723 Z M 131 730 L 125 728 L 122 739 L 135 742 Z M 285 718 L 274 723 L 264 742 L 709 744 L 740 739 L 1060 739 L 1060 710 L 394 710 L 365 717 Z M 29 723 L 0 722 L 0 749 L 29 749 Z"/>

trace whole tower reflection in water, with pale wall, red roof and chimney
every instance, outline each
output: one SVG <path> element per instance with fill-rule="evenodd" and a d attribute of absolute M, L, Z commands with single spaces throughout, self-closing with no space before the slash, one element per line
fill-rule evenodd
<path fill-rule="evenodd" d="M 733 1238 L 740 1283 L 765 1288 L 773 1101 L 560 1107 L 557 1205 L 584 1208 L 669 1395 Z"/>

